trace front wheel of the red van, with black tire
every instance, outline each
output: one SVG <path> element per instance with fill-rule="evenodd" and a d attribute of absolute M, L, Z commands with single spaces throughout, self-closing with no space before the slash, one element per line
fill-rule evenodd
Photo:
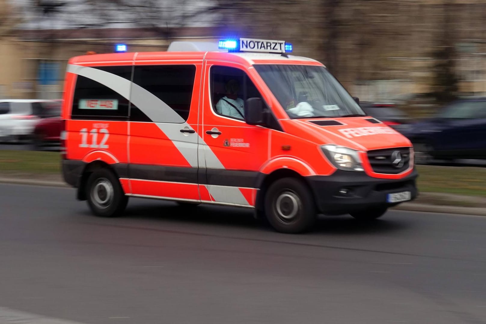
<path fill-rule="evenodd" d="M 270 185 L 264 209 L 270 225 L 281 233 L 308 231 L 317 218 L 312 192 L 296 178 L 282 178 Z"/>

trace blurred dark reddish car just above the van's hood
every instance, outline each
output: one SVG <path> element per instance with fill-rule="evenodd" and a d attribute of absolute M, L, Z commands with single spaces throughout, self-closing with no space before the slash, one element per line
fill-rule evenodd
<path fill-rule="evenodd" d="M 410 127 L 411 119 L 393 103 L 360 102 L 364 112 L 391 128 L 402 132 Z"/>

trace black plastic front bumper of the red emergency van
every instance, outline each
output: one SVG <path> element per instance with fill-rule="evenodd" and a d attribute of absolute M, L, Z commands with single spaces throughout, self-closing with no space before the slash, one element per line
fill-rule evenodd
<path fill-rule="evenodd" d="M 410 191 L 412 199 L 417 197 L 417 171 L 402 179 L 378 179 L 364 172 L 338 170 L 330 176 L 307 177 L 319 211 L 326 215 L 347 214 L 371 207 L 392 207 L 387 194 Z M 347 194 L 340 193 L 346 189 Z"/>

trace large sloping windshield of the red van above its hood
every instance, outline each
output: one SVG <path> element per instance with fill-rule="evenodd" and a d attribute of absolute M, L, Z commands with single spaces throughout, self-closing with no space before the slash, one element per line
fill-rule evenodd
<path fill-rule="evenodd" d="M 346 89 L 324 67 L 255 65 L 290 118 L 365 116 Z"/>

